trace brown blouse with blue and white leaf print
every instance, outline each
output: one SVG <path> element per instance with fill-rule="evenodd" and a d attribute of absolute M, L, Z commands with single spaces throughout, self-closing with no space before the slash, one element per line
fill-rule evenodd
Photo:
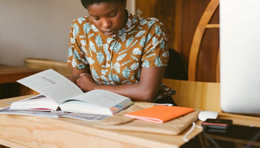
<path fill-rule="evenodd" d="M 163 24 L 156 18 L 139 18 L 127 12 L 126 25 L 113 36 L 97 30 L 88 16 L 74 20 L 67 64 L 77 69 L 89 66 L 96 83 L 107 85 L 138 83 L 142 67 L 167 66 Z M 174 94 L 161 83 L 154 101 Z"/>

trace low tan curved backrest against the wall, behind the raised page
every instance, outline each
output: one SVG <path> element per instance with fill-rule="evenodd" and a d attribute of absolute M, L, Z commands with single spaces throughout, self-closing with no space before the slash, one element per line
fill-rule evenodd
<path fill-rule="evenodd" d="M 71 76 L 72 68 L 65 62 L 36 58 L 25 58 L 24 61 L 29 68 L 41 70 L 53 69 L 65 77 Z"/>

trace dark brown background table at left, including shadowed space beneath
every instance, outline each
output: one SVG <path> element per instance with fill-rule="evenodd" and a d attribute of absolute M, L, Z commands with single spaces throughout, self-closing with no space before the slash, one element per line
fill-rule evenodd
<path fill-rule="evenodd" d="M 0 64 L 0 99 L 36 94 L 16 81 L 38 72 L 41 70 Z"/>

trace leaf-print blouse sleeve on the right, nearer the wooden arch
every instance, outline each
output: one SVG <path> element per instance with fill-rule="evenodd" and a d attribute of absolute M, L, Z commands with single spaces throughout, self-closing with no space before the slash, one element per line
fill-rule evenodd
<path fill-rule="evenodd" d="M 142 67 L 167 66 L 169 60 L 168 39 L 161 22 L 156 21 L 146 37 L 142 54 Z"/>

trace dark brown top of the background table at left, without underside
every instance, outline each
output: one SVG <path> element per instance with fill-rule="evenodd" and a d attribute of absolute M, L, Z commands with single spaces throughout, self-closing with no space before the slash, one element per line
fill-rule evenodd
<path fill-rule="evenodd" d="M 8 66 L 0 64 L 0 84 L 12 83 L 24 77 L 41 72 L 27 67 Z"/>

